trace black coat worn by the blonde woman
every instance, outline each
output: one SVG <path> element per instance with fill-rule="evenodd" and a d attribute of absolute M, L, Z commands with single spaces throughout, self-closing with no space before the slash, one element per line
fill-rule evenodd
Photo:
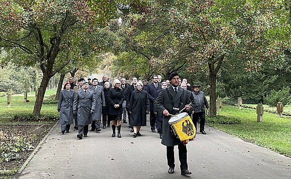
<path fill-rule="evenodd" d="M 121 88 L 110 88 L 108 92 L 108 102 L 109 102 L 109 114 L 118 115 L 122 114 L 122 103 L 124 101 L 124 93 Z M 119 104 L 118 108 L 115 108 L 114 105 Z"/>

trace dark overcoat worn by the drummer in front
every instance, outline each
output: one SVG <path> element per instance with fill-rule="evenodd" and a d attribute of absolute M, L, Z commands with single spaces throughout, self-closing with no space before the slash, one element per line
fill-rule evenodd
<path fill-rule="evenodd" d="M 169 90 L 169 93 L 166 90 Z M 178 92 L 177 94 L 175 93 L 173 86 L 170 85 L 167 88 L 162 89 L 162 92 L 160 93 L 160 95 L 157 97 L 157 99 L 155 100 L 155 108 L 163 114 L 164 109 L 167 109 L 169 111 L 169 113 L 171 114 L 171 110 L 172 110 L 172 104 L 171 104 L 171 100 L 169 95 L 172 95 L 173 97 L 173 101 L 176 107 L 178 107 L 179 102 L 180 102 L 180 96 L 182 96 L 182 104 L 180 105 L 180 110 L 183 109 L 185 107 L 186 104 L 190 104 L 192 102 L 192 97 L 190 96 L 190 93 L 187 92 L 187 90 L 181 88 L 179 86 L 178 88 Z M 179 111 L 180 111 L 179 110 Z M 192 113 L 193 110 L 193 104 L 191 105 L 190 110 L 188 111 L 189 114 Z M 186 110 L 182 111 L 182 112 L 187 112 Z M 170 132 L 170 128 L 169 128 L 169 119 L 171 118 L 171 116 L 164 116 L 163 115 L 163 137 L 162 137 L 162 144 L 163 145 L 167 145 L 167 146 L 174 146 L 174 145 L 178 145 L 181 143 L 180 139 L 177 139 L 176 136 L 174 136 L 171 132 Z"/>

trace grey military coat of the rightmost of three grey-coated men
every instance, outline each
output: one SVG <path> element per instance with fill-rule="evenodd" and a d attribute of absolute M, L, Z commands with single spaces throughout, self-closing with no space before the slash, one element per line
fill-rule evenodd
<path fill-rule="evenodd" d="M 104 91 L 103 87 L 97 85 L 96 89 L 93 85 L 89 86 L 89 90 L 92 90 L 96 100 L 95 111 L 92 115 L 92 120 L 101 120 L 102 107 L 105 107 Z"/>

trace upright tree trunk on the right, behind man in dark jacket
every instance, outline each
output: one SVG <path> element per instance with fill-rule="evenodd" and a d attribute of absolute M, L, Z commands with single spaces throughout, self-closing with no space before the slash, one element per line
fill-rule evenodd
<path fill-rule="evenodd" d="M 216 116 L 216 74 L 209 74 L 210 81 L 210 101 L 209 101 L 209 115 Z"/>

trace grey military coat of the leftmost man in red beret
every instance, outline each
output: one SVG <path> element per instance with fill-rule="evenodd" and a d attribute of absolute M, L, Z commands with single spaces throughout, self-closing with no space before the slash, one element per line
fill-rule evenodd
<path fill-rule="evenodd" d="M 73 124 L 73 101 L 75 97 L 75 91 L 70 89 L 69 93 L 67 90 L 61 90 L 58 110 L 61 110 L 60 124 Z"/>

